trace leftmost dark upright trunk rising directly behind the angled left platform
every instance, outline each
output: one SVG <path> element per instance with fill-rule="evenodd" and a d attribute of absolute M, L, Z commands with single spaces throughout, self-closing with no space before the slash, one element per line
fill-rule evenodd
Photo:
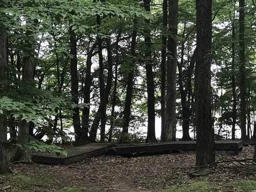
<path fill-rule="evenodd" d="M 79 103 L 78 99 L 78 75 L 77 75 L 77 53 L 76 53 L 76 35 L 70 27 L 70 53 L 72 54 L 71 62 L 70 62 L 70 69 L 71 69 L 71 97 L 72 101 L 75 104 Z M 79 108 L 73 108 L 73 127 L 74 132 L 76 133 L 75 136 L 75 143 L 76 144 L 84 144 L 84 134 L 83 130 L 81 129 L 80 124 L 80 114 Z"/>

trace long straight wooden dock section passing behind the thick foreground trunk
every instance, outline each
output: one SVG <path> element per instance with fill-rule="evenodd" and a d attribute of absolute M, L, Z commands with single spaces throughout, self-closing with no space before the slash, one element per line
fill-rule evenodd
<path fill-rule="evenodd" d="M 244 146 L 242 140 L 221 140 L 215 141 L 216 151 L 228 151 L 228 154 L 236 154 Z M 165 143 L 148 143 L 148 144 L 118 144 L 107 151 L 111 155 L 128 155 L 140 153 L 157 153 L 172 151 L 195 151 L 195 141 L 175 141 Z"/>

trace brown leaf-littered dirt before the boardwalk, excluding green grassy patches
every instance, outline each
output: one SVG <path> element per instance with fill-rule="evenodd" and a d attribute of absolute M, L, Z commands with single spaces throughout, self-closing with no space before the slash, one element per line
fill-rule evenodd
<path fill-rule="evenodd" d="M 216 156 L 216 160 L 252 158 L 253 151 L 252 146 L 247 146 L 238 155 Z M 188 176 L 194 170 L 188 167 L 193 166 L 195 154 L 182 153 L 130 158 L 98 156 L 68 165 L 11 164 L 15 174 L 38 180 L 49 178 L 54 182 L 54 187 L 44 187 L 40 190 L 42 192 L 57 192 L 63 187 L 81 187 L 92 192 L 159 192 L 171 185 L 184 185 L 198 180 L 198 177 Z M 235 179 L 253 177 L 255 167 L 252 162 L 226 162 L 210 168 L 211 174 L 205 178 L 221 185 Z M 4 190 L 10 191 L 12 183 L 1 177 L 0 189 L 10 186 Z"/>

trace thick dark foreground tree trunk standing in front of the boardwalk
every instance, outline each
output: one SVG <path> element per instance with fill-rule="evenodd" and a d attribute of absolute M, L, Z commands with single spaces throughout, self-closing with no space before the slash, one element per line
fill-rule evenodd
<path fill-rule="evenodd" d="M 215 162 L 211 115 L 212 0 L 196 0 L 196 166 Z"/>

